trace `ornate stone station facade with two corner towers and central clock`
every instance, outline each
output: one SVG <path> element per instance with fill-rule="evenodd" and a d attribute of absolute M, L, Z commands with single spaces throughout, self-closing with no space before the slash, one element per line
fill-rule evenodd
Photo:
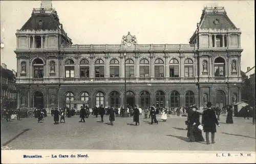
<path fill-rule="evenodd" d="M 18 106 L 123 106 L 124 84 L 126 103 L 143 107 L 241 101 L 241 32 L 224 8 L 206 7 L 187 45 L 138 44 L 130 32 L 121 44 L 72 45 L 62 24 L 44 26 L 47 16 L 58 22 L 53 9 L 34 9 L 38 26 L 16 33 Z"/>

